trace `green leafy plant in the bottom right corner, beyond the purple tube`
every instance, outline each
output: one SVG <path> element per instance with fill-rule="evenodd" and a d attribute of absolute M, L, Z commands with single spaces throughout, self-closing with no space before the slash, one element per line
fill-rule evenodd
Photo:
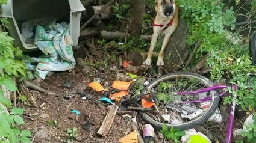
<path fill-rule="evenodd" d="M 247 131 L 241 133 L 242 136 L 246 136 L 247 142 L 256 142 L 256 117 L 252 117 L 254 123 L 249 126 L 246 126 Z"/>

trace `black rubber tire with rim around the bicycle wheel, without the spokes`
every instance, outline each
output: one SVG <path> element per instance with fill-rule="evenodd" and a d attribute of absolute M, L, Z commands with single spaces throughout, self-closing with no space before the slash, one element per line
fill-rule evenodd
<path fill-rule="evenodd" d="M 213 85 L 213 82 L 211 82 L 210 79 L 205 78 L 204 76 L 198 75 L 196 73 L 189 73 L 189 72 L 171 73 L 169 75 L 161 76 L 160 78 L 157 78 L 154 81 L 152 81 L 151 83 L 149 83 L 149 85 L 147 85 L 147 87 L 145 87 L 142 90 L 142 93 L 146 94 L 147 88 L 150 90 L 150 88 L 154 87 L 154 85 L 158 84 L 158 82 L 163 81 L 164 79 L 169 79 L 174 76 L 181 76 L 181 75 L 197 78 L 197 79 L 199 79 L 199 81 L 204 82 L 204 84 L 207 85 L 207 87 L 210 87 L 211 85 Z M 204 121 L 208 120 L 214 114 L 214 112 L 216 111 L 216 109 L 219 105 L 219 94 L 216 91 L 210 91 L 210 95 L 213 97 L 213 99 L 211 100 L 212 101 L 211 106 L 201 117 L 199 117 L 196 120 L 184 123 L 184 124 L 178 124 L 178 125 L 165 124 L 165 125 L 169 129 L 171 127 L 173 127 L 176 129 L 187 130 L 187 129 L 192 129 L 193 127 L 196 127 L 199 124 L 204 123 Z M 160 129 L 160 130 L 162 129 L 163 123 L 153 120 L 152 118 L 150 118 L 148 116 L 148 114 L 146 114 L 146 112 L 139 112 L 139 115 L 143 119 L 143 121 L 145 121 L 146 123 L 151 124 L 156 129 Z"/>

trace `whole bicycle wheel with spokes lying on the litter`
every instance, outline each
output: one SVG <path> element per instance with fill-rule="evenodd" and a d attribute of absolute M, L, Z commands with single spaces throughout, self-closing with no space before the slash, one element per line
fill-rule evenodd
<path fill-rule="evenodd" d="M 157 94 L 154 102 L 160 112 L 139 112 L 140 117 L 157 129 L 162 129 L 163 124 L 169 128 L 192 129 L 214 114 L 219 105 L 219 94 L 216 91 L 189 95 L 176 93 L 195 91 L 211 85 L 213 82 L 195 73 L 172 73 L 161 76 L 142 91 L 143 94 Z M 188 103 L 205 97 L 211 97 L 211 101 Z"/>

